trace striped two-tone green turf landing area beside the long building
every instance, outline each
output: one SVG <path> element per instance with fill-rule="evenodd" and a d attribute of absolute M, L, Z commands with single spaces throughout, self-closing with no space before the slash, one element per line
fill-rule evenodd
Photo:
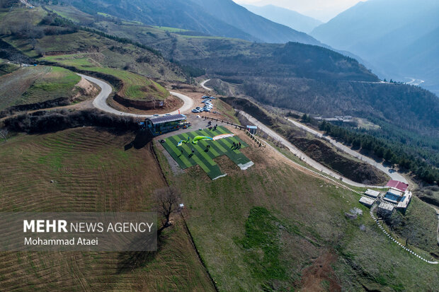
<path fill-rule="evenodd" d="M 216 131 L 204 129 L 202 131 L 194 131 L 187 134 L 178 134 L 175 136 L 171 136 L 166 138 L 166 141 L 162 144 L 166 151 L 171 154 L 172 158 L 176 160 L 178 165 L 181 168 L 186 169 L 190 168 L 194 165 L 200 165 L 200 167 L 209 175 L 209 177 L 213 180 L 217 177 L 224 175 L 222 173 L 220 167 L 215 163 L 214 159 L 219 156 L 227 156 L 230 158 L 236 165 L 244 165 L 249 163 L 249 158 L 239 151 L 239 149 L 234 149 L 233 143 L 241 142 L 241 148 L 247 147 L 241 139 L 237 136 L 224 138 L 216 141 L 198 141 L 198 144 L 183 144 L 183 146 L 177 147 L 179 141 L 187 140 L 190 137 L 190 141 L 193 141 L 195 136 L 209 136 L 213 137 L 220 134 L 229 134 L 230 131 L 224 127 L 217 127 Z M 210 145 L 209 151 L 206 151 L 206 146 Z M 195 153 L 192 154 L 191 149 L 195 150 Z M 183 153 L 181 153 L 183 150 Z"/>

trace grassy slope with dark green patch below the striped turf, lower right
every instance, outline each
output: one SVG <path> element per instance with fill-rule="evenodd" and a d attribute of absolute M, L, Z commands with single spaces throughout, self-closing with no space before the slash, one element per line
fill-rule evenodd
<path fill-rule="evenodd" d="M 295 170 L 272 148 L 242 152 L 251 171 L 217 160 L 221 180 L 200 179 L 197 168 L 166 172 L 220 291 L 435 291 L 439 267 L 388 240 L 357 194 Z M 353 207 L 363 216 L 349 220 Z"/>

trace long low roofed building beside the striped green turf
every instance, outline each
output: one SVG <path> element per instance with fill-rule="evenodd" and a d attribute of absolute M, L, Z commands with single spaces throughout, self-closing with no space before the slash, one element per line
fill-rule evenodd
<path fill-rule="evenodd" d="M 166 115 L 163 117 L 148 117 L 145 119 L 147 129 L 154 135 L 158 136 L 187 126 L 186 115 Z"/>

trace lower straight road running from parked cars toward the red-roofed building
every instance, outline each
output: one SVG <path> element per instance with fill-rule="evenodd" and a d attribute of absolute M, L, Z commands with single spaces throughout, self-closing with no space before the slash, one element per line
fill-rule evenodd
<path fill-rule="evenodd" d="M 283 138 L 283 136 L 280 136 L 278 133 L 274 132 L 272 129 L 268 128 L 265 124 L 259 122 L 254 117 L 251 117 L 251 115 L 249 115 L 246 112 L 243 112 L 241 110 L 239 111 L 239 113 L 241 115 L 244 115 L 244 117 L 246 117 L 246 119 L 249 119 L 249 121 L 252 124 L 259 127 L 259 129 L 261 129 L 263 132 L 268 134 L 268 136 L 270 136 L 272 139 L 279 141 L 281 144 L 283 144 L 283 146 L 287 147 L 293 154 L 295 154 L 295 156 L 299 157 L 302 161 L 304 161 L 308 165 L 311 165 L 313 168 L 321 171 L 321 173 L 325 173 L 326 175 L 329 175 L 331 177 L 336 177 L 337 179 L 340 179 L 340 177 L 341 177 L 343 182 L 345 182 L 346 184 L 351 185 L 353 187 L 383 188 L 382 186 L 376 186 L 376 185 L 363 185 L 363 184 L 360 184 L 359 182 L 354 182 L 353 180 L 349 180 L 348 178 L 341 176 L 339 173 L 336 173 L 335 171 L 333 171 L 329 168 L 326 168 L 326 166 L 321 165 L 316 160 L 307 156 L 307 154 L 303 153 L 302 151 L 300 151 L 299 148 L 297 148 L 296 146 L 291 144 L 290 141 L 287 141 L 285 138 Z"/>

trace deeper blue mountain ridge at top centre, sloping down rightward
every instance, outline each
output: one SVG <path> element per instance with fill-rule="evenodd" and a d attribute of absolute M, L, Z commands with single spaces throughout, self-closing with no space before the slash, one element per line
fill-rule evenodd
<path fill-rule="evenodd" d="M 71 1 L 87 13 L 104 12 L 148 25 L 194 30 L 207 35 L 256 42 L 303 42 L 320 45 L 313 37 L 268 21 L 232 0 L 86 0 Z"/>

